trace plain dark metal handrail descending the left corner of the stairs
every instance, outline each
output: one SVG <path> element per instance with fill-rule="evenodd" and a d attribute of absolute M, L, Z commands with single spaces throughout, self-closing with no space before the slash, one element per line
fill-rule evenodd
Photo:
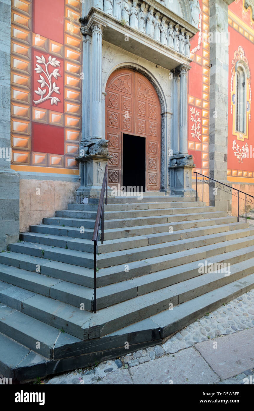
<path fill-rule="evenodd" d="M 100 233 L 101 227 L 101 244 L 103 244 L 104 240 L 104 194 L 105 196 L 105 204 L 108 204 L 108 164 L 105 166 L 105 172 L 101 187 L 101 195 L 98 203 L 98 210 L 96 214 L 95 224 L 94 224 L 94 233 L 92 237 L 92 241 L 94 242 L 94 312 L 96 312 L 96 270 L 97 270 L 97 263 L 96 263 L 96 249 L 98 243 L 98 237 Z"/>

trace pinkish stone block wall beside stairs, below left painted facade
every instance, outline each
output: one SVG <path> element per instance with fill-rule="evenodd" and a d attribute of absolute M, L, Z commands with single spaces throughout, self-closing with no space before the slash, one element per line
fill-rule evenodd
<path fill-rule="evenodd" d="M 56 210 L 66 210 L 75 203 L 78 181 L 20 180 L 20 231 L 29 231 L 30 224 L 41 224 L 43 217 L 54 217 Z"/>

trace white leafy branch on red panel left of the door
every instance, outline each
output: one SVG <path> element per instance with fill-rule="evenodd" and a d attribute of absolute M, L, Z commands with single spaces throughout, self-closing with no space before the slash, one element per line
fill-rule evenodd
<path fill-rule="evenodd" d="M 52 58 L 51 56 L 49 56 L 48 62 L 46 62 L 46 59 L 43 55 L 41 57 L 35 57 L 37 58 L 36 62 L 38 64 L 36 65 L 34 70 L 40 76 L 40 79 L 37 81 L 41 84 L 41 88 L 38 87 L 38 90 L 34 90 L 34 92 L 40 96 L 39 100 L 34 100 L 34 104 L 39 104 L 50 99 L 50 103 L 52 106 L 53 104 L 57 105 L 57 102 L 60 102 L 60 100 L 58 97 L 53 97 L 52 94 L 53 92 L 56 94 L 60 94 L 60 92 L 59 87 L 57 87 L 56 83 L 52 83 L 52 78 L 54 77 L 55 79 L 57 79 L 57 77 L 61 77 L 61 75 L 59 74 L 59 69 L 54 69 L 52 73 L 49 73 L 48 66 L 50 65 L 53 67 L 59 67 L 60 62 L 56 60 L 55 57 Z M 41 73 L 43 73 L 43 75 Z"/>

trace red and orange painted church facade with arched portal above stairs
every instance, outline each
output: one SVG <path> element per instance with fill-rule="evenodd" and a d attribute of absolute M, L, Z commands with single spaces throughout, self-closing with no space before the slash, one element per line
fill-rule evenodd
<path fill-rule="evenodd" d="M 1 249 L 98 196 L 107 163 L 111 188 L 190 195 L 196 171 L 252 194 L 251 0 L 0 5 Z"/>

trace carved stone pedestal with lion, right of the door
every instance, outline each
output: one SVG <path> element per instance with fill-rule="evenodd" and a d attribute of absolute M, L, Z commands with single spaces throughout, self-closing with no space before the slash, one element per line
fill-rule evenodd
<path fill-rule="evenodd" d="M 169 165 L 170 173 L 170 194 L 174 196 L 192 196 L 195 190 L 192 189 L 192 155 L 171 157 Z"/>

